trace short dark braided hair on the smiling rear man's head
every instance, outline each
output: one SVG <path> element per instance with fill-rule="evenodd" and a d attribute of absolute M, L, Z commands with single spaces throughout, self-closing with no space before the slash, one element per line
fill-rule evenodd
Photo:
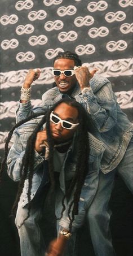
<path fill-rule="evenodd" d="M 78 55 L 76 53 L 71 53 L 71 51 L 63 51 L 57 54 L 57 56 L 53 60 L 53 64 L 55 63 L 56 59 L 73 59 L 76 66 L 82 66 L 82 62 L 79 59 Z"/>

